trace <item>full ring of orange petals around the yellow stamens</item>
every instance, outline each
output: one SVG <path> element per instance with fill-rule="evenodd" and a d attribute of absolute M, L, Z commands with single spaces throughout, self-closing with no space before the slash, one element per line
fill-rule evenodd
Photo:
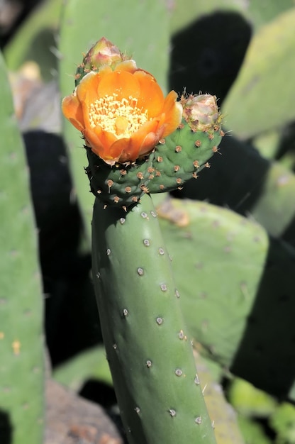
<path fill-rule="evenodd" d="M 136 106 L 147 111 L 150 120 L 129 138 L 118 138 L 101 126 L 90 124 L 90 106 L 104 96 L 117 95 L 116 99 L 137 99 Z M 132 101 L 130 101 L 132 104 Z M 162 89 L 149 72 L 138 70 L 133 60 L 118 63 L 114 70 L 109 66 L 85 75 L 74 94 L 62 101 L 65 117 L 82 131 L 87 145 L 110 165 L 116 161 L 133 162 L 151 152 L 160 138 L 172 133 L 182 120 L 182 106 L 177 94 L 171 91 L 165 98 Z"/>

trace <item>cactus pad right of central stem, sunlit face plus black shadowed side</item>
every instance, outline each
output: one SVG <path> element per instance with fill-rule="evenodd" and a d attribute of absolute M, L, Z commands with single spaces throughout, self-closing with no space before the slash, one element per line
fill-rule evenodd
<path fill-rule="evenodd" d="M 294 399 L 294 249 L 204 202 L 158 213 L 174 222 L 161 225 L 191 335 L 233 374 Z"/>

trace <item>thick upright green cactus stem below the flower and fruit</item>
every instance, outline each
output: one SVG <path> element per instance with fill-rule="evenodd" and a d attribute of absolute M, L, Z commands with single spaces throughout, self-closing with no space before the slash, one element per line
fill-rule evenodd
<path fill-rule="evenodd" d="M 96 198 L 93 277 L 130 444 L 215 443 L 150 196 L 123 209 Z"/>

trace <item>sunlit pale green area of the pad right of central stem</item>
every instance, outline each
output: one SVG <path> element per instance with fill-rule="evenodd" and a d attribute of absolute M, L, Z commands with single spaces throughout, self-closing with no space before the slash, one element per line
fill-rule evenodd
<path fill-rule="evenodd" d="M 267 235 L 205 202 L 169 199 L 157 211 L 191 335 L 230 367 L 259 286 Z"/>

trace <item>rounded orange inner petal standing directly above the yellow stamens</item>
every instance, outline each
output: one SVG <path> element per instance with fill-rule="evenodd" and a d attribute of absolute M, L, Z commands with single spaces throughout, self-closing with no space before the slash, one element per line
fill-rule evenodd
<path fill-rule="evenodd" d="M 128 99 L 128 97 L 137 98 L 140 94 L 140 85 L 130 72 L 115 71 L 101 79 L 98 86 L 100 97 L 112 96 L 118 94 L 118 100 Z"/>

